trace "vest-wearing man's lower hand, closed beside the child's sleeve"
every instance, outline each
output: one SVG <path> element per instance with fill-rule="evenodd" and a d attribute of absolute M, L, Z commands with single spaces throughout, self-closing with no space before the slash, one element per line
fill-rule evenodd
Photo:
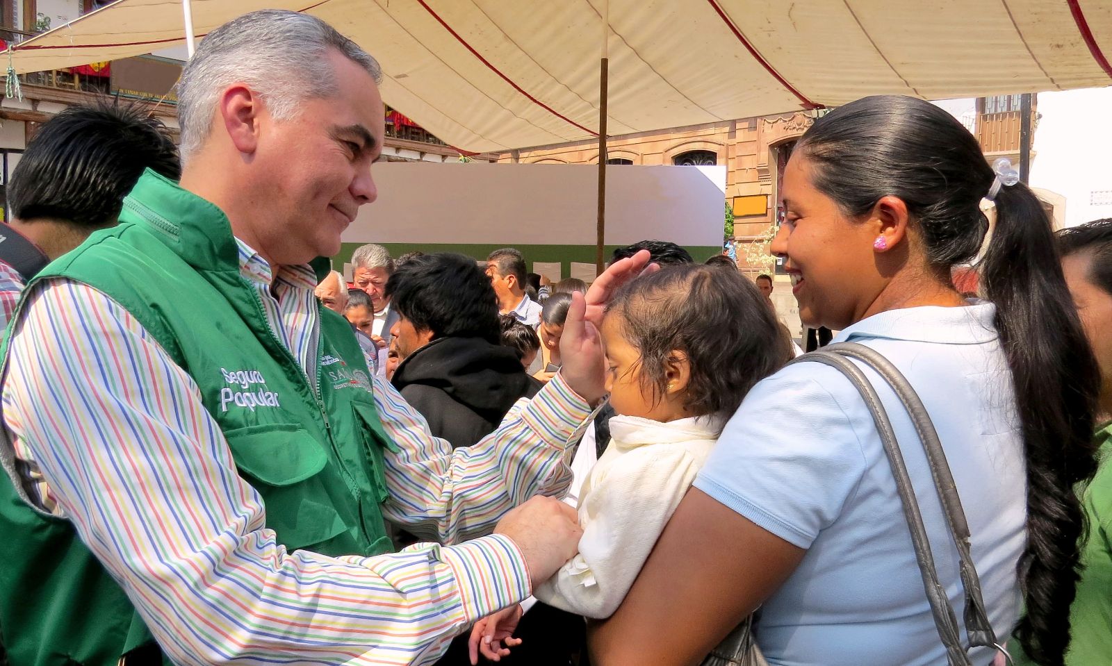
<path fill-rule="evenodd" d="M 517 544 L 529 568 L 534 588 L 552 578 L 564 563 L 572 559 L 579 549 L 579 537 L 583 536 L 575 509 L 558 499 L 540 495 L 510 509 L 494 530 Z"/>

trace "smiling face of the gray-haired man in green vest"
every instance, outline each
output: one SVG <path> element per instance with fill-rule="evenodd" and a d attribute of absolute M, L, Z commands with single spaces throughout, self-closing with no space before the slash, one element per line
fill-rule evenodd
<path fill-rule="evenodd" d="M 252 201 L 260 250 L 277 264 L 305 264 L 339 252 L 340 233 L 359 207 L 378 197 L 370 166 L 381 151 L 384 107 L 378 87 L 359 64 L 338 52 L 332 63 L 337 93 L 307 99 L 299 115 L 256 119 L 257 147 L 247 156 L 255 186 L 268 183 Z"/>

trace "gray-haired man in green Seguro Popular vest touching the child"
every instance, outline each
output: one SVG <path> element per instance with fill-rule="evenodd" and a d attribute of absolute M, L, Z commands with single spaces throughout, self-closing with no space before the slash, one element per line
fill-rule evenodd
<path fill-rule="evenodd" d="M 314 297 L 377 196 L 379 79 L 308 14 L 212 30 L 179 83 L 180 185 L 148 170 L 28 286 L 0 368 L 13 665 L 427 664 L 576 551 L 575 511 L 537 495 L 603 396 L 607 288 L 575 301 L 560 374 L 457 450 Z M 596 285 L 644 260 L 623 266 Z M 445 545 L 391 553 L 384 519 Z"/>

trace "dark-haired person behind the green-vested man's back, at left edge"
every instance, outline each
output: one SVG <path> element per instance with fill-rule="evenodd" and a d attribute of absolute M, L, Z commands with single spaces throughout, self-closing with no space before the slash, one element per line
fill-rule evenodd
<path fill-rule="evenodd" d="M 0 233 L 0 325 L 49 261 L 116 225 L 146 169 L 181 177 L 166 126 L 138 106 L 63 109 L 39 128 L 11 175 Z"/>

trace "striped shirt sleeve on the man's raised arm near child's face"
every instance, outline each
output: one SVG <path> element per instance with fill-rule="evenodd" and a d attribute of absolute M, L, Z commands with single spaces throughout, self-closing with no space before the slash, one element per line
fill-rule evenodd
<path fill-rule="evenodd" d="M 374 381 L 383 427 L 398 446 L 386 451 L 384 515 L 413 534 L 443 544 L 489 534 L 529 497 L 563 497 L 570 486 L 574 444 L 590 424 L 590 407 L 560 375 L 519 400 L 481 441 L 457 449 L 434 437 L 389 381 Z"/>

